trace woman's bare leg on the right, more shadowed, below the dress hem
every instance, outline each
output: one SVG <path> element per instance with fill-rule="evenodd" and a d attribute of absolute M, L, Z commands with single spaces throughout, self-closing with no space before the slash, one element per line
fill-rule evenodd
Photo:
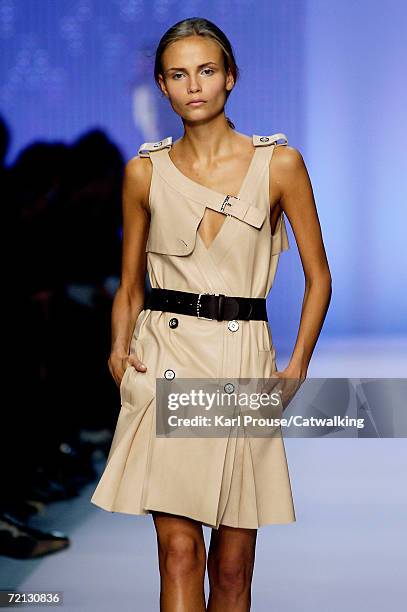
<path fill-rule="evenodd" d="M 212 529 L 208 554 L 208 612 L 247 612 L 251 605 L 257 529 Z"/>

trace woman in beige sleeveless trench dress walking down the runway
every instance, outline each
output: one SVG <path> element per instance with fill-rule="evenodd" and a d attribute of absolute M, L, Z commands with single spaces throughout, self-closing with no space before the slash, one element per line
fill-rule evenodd
<path fill-rule="evenodd" d="M 109 358 L 121 410 L 91 501 L 152 515 L 164 611 L 249 610 L 258 528 L 296 519 L 281 432 L 157 437 L 156 379 L 303 380 L 331 296 L 303 158 L 282 133 L 248 137 L 234 129 L 224 107 L 237 77 L 231 44 L 215 24 L 191 18 L 168 30 L 155 79 L 184 135 L 144 143 L 124 178 Z M 279 372 L 266 297 L 289 248 L 284 213 L 305 296 L 293 353 Z M 212 527 L 208 558 L 202 525 Z"/>

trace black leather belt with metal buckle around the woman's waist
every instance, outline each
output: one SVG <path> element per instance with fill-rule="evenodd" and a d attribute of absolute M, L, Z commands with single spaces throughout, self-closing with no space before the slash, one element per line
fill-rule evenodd
<path fill-rule="evenodd" d="M 189 293 L 153 287 L 144 308 L 216 321 L 268 320 L 265 298 L 232 297 L 223 293 Z"/>

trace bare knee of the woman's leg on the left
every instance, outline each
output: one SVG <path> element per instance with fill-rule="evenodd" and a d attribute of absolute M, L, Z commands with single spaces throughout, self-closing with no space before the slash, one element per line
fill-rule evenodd
<path fill-rule="evenodd" d="M 161 547 L 163 568 L 171 578 L 205 571 L 205 548 L 188 534 L 170 535 Z"/>

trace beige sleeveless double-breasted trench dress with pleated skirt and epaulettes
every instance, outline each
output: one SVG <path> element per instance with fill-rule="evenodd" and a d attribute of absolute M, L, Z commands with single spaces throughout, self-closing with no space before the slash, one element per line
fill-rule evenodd
<path fill-rule="evenodd" d="M 282 143 L 278 141 L 282 140 Z M 168 155 L 172 137 L 144 143 L 153 164 L 146 244 L 152 287 L 267 297 L 289 248 L 283 213 L 270 229 L 269 164 L 284 134 L 252 138 L 254 156 L 238 198 L 184 175 Z M 226 215 L 207 248 L 197 232 L 209 207 Z M 170 320 L 174 321 L 171 325 Z M 160 438 L 156 378 L 270 377 L 276 353 L 266 321 L 216 321 L 142 310 L 130 344 L 147 366 L 129 366 L 107 463 L 91 502 L 111 512 L 169 512 L 207 526 L 258 528 L 296 520 L 285 447 L 271 438 Z"/>

